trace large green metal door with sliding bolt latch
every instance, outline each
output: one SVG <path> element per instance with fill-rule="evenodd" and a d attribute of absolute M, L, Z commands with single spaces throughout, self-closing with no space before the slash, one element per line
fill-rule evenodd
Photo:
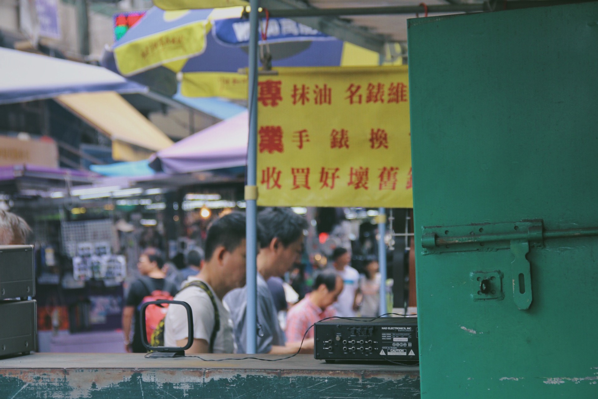
<path fill-rule="evenodd" d="M 422 398 L 598 397 L 598 4 L 408 39 Z"/>

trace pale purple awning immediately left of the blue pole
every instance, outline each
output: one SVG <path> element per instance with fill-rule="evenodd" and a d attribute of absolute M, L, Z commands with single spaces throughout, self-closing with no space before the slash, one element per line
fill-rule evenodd
<path fill-rule="evenodd" d="M 166 173 L 245 166 L 248 126 L 248 112 L 243 112 L 158 151 L 149 159 L 149 166 Z"/>

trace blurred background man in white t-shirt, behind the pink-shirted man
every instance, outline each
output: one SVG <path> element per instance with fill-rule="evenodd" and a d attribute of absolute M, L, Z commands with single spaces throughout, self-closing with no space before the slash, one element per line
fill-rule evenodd
<path fill-rule="evenodd" d="M 345 248 L 335 248 L 332 252 L 332 266 L 343 279 L 343 291 L 333 305 L 339 317 L 355 317 L 358 309 L 357 294 L 359 290 L 359 272 L 349 266 L 351 254 Z"/>

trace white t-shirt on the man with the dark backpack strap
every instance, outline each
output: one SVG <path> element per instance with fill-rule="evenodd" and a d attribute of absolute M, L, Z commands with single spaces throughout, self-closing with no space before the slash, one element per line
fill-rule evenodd
<path fill-rule="evenodd" d="M 187 282 L 199 280 L 196 277 L 190 277 L 182 284 L 184 286 Z M 208 285 L 206 283 L 206 285 Z M 234 352 L 234 337 L 233 337 L 233 321 L 230 318 L 228 308 L 216 297 L 216 294 L 210 287 L 216 305 L 218 305 L 218 312 L 220 315 L 220 329 L 216 334 L 214 342 L 215 354 L 231 354 Z M 184 301 L 191 306 L 193 312 L 193 337 L 196 339 L 203 339 L 210 343 L 212 330 L 214 328 L 214 307 L 212 301 L 206 291 L 199 287 L 188 287 L 176 294 L 175 301 Z M 187 310 L 181 305 L 171 304 L 166 313 L 164 320 L 164 345 L 178 346 L 177 340 L 187 338 Z"/>

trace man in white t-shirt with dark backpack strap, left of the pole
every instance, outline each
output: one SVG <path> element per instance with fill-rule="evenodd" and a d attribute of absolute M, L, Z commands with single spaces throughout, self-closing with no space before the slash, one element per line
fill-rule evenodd
<path fill-rule="evenodd" d="M 233 212 L 214 221 L 206 237 L 206 261 L 183 282 L 175 300 L 193 311 L 193 345 L 187 354 L 233 353 L 233 322 L 222 298 L 245 285 L 245 215 Z M 188 342 L 187 310 L 171 304 L 164 319 L 164 345 Z"/>

